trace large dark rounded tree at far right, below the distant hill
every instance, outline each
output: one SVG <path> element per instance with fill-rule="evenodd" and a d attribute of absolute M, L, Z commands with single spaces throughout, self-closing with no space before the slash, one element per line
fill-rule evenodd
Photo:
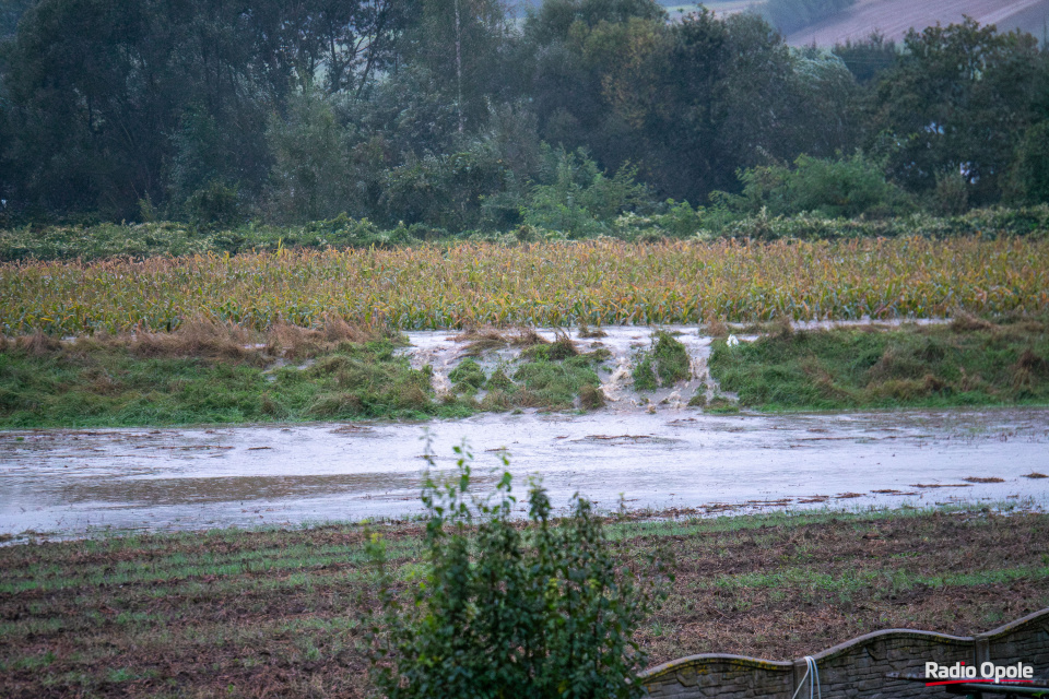
<path fill-rule="evenodd" d="M 911 191 L 960 173 L 970 202 L 998 201 L 1033 121 L 1037 40 L 966 20 L 911 31 L 904 44 L 874 94 L 869 150 L 885 153 L 891 176 Z"/>

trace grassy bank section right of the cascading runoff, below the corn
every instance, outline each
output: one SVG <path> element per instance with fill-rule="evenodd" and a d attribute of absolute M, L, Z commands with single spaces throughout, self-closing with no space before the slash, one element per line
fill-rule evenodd
<path fill-rule="evenodd" d="M 960 317 L 950 324 L 792 332 L 730 347 L 709 366 L 761 410 L 1045 404 L 1049 320 Z"/>

